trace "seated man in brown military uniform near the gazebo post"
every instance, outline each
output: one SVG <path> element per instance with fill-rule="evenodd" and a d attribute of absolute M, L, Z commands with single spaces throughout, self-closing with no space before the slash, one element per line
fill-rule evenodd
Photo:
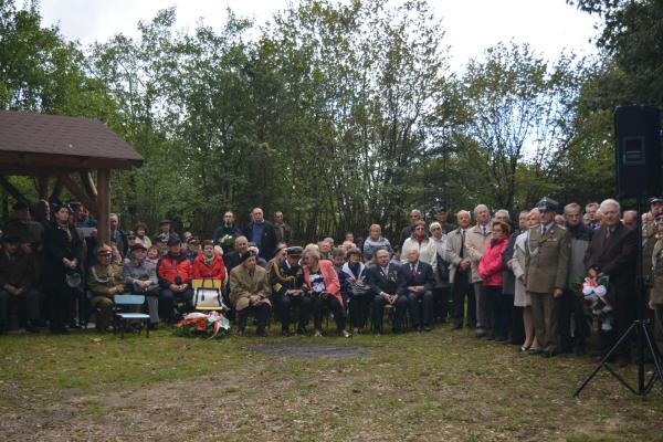
<path fill-rule="evenodd" d="M 90 304 L 99 309 L 97 332 L 106 332 L 113 320 L 113 296 L 125 292 L 122 265 L 110 262 L 113 250 L 108 245 L 97 249 L 97 263 L 87 272 L 87 290 L 92 293 Z"/>

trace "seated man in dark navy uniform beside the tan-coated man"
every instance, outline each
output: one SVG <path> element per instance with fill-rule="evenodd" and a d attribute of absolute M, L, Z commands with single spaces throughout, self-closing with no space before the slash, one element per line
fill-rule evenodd
<path fill-rule="evenodd" d="M 304 272 L 299 265 L 302 252 L 302 248 L 287 248 L 285 250 L 286 259 L 275 266 L 270 275 L 272 299 L 278 309 L 282 336 L 293 335 L 290 330 L 291 308 L 293 306 L 299 307 L 297 333 L 308 336 L 306 325 L 311 317 L 312 301 L 302 292 L 302 285 L 304 284 Z"/>

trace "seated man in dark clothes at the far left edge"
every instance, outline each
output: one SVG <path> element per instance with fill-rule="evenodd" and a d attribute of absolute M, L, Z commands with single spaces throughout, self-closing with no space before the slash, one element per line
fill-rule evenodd
<path fill-rule="evenodd" d="M 6 234 L 0 251 L 0 334 L 9 328 L 9 303 L 19 304 L 19 322 L 28 332 L 36 332 L 39 320 L 39 281 L 35 255 L 21 250 L 21 236 Z"/>

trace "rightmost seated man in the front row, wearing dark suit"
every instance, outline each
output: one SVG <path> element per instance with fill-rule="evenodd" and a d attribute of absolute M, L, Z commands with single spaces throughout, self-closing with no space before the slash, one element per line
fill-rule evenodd
<path fill-rule="evenodd" d="M 408 252 L 408 263 L 400 269 L 399 296 L 408 297 L 412 325 L 417 332 L 430 332 L 433 324 L 433 267 L 419 261 L 419 251 Z"/>

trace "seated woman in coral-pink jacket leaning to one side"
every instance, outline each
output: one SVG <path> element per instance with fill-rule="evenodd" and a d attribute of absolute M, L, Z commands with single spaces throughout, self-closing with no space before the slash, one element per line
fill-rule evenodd
<path fill-rule="evenodd" d="M 343 298 L 338 276 L 330 261 L 322 260 L 316 246 L 307 246 L 304 259 L 304 286 L 302 287 L 313 302 L 315 336 L 323 336 L 323 307 L 334 315 L 339 336 L 352 336 L 345 329 Z"/>

